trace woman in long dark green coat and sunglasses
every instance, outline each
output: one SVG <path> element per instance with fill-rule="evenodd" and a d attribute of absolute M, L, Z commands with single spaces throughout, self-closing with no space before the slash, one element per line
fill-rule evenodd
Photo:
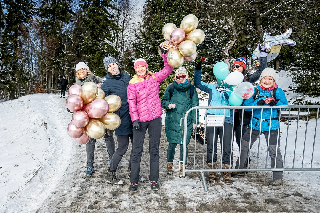
<path fill-rule="evenodd" d="M 170 89 L 171 87 L 171 89 Z M 170 91 L 171 90 L 171 91 Z M 167 174 L 172 175 L 173 158 L 177 144 L 180 145 L 180 172 L 179 177 L 182 178 L 182 157 L 183 157 L 183 128 L 180 126 L 180 119 L 184 118 L 186 112 L 195 106 L 199 106 L 198 94 L 196 88 L 191 84 L 188 78 L 187 70 L 181 66 L 174 73 L 173 86 L 169 85 L 164 92 L 161 100 L 162 108 L 166 109 L 165 116 L 165 134 L 169 142 L 167 151 Z M 182 121 L 182 124 L 184 122 Z M 190 142 L 192 129 L 196 128 L 199 123 L 199 114 L 196 121 L 196 110 L 192 110 L 188 114 L 187 127 L 187 145 Z M 188 146 L 187 156 L 188 157 Z"/>

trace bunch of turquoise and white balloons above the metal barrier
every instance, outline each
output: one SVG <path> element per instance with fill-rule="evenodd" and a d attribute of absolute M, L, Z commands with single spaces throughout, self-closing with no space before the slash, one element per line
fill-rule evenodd
<path fill-rule="evenodd" d="M 217 84 L 223 87 L 229 87 L 231 95 L 229 104 L 231 106 L 240 106 L 243 99 L 250 98 L 253 93 L 253 85 L 250 82 L 242 82 L 244 76 L 242 72 L 229 73 L 228 65 L 224 62 L 218 62 L 213 66 L 213 74 L 217 77 Z"/>

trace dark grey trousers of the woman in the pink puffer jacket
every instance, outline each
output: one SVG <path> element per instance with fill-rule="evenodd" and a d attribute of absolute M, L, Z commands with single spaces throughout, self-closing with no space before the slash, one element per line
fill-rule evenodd
<path fill-rule="evenodd" d="M 138 183 L 144 138 L 149 133 L 149 180 L 158 181 L 159 178 L 159 146 L 161 138 L 161 117 L 151 121 L 140 122 L 140 130 L 133 128 L 133 152 L 131 155 L 130 181 Z"/>

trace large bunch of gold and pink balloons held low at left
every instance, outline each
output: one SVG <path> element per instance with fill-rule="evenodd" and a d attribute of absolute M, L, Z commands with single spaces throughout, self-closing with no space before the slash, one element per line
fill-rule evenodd
<path fill-rule="evenodd" d="M 107 129 L 120 126 L 120 117 L 113 113 L 120 109 L 122 101 L 117 95 L 108 95 L 93 82 L 83 86 L 72 85 L 66 100 L 67 108 L 73 111 L 67 131 L 79 144 L 86 144 L 90 138 L 99 139 Z"/>

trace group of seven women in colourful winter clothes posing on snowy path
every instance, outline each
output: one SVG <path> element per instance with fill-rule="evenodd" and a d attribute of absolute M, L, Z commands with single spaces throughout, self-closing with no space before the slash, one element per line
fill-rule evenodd
<path fill-rule="evenodd" d="M 268 105 L 287 105 L 284 92 L 278 88 L 276 84 L 276 73 L 272 68 L 267 68 L 267 54 L 263 46 L 260 46 L 260 66 L 257 72 L 250 74 L 246 69 L 246 58 L 238 58 L 232 65 L 233 72 L 242 72 L 244 81 L 251 83 L 259 81 L 259 85 L 255 88 L 260 91 L 258 97 L 251 97 L 244 101 L 243 105 L 266 105 L 265 97 L 273 96 L 275 100 L 270 101 Z M 199 106 L 198 94 L 196 88 L 209 94 L 208 106 L 229 106 L 228 98 L 230 91 L 224 89 L 217 84 L 208 84 L 201 80 L 200 61 L 195 67 L 194 83 L 192 85 L 187 70 L 181 66 L 174 73 L 174 82 L 170 84 L 164 92 L 164 96 L 160 101 L 159 86 L 173 71 L 173 68 L 167 62 L 167 50 L 160 49 L 161 56 L 164 62 L 164 68 L 159 72 L 150 72 L 148 64 L 143 58 L 138 58 L 133 65 L 136 74 L 131 78 L 128 74 L 123 73 L 119 67 L 117 60 L 114 57 L 105 57 L 104 65 L 108 74 L 106 80 L 98 76 L 94 76 L 89 67 L 80 62 L 76 65 L 76 84 L 83 85 L 85 82 L 95 82 L 101 84 L 100 88 L 105 92 L 105 95 L 118 95 L 122 100 L 122 105 L 119 110 L 115 111 L 121 118 L 121 125 L 115 130 L 117 137 L 117 148 L 113 138 L 113 131 L 108 130 L 104 136 L 109 154 L 110 166 L 107 173 L 106 182 L 114 185 L 123 185 L 124 182 L 116 176 L 117 167 L 126 153 L 129 145 L 129 138 L 132 144 L 130 162 L 128 166 L 128 178 L 130 179 L 130 192 L 138 191 L 138 182 L 144 182 L 144 177 L 140 176 L 140 164 L 143 151 L 143 144 L 148 129 L 149 134 L 149 182 L 151 190 L 158 190 L 159 184 L 159 146 L 162 132 L 162 108 L 166 110 L 165 133 L 169 146 L 167 149 L 167 174 L 173 173 L 173 159 L 177 144 L 180 146 L 180 170 L 179 177 L 182 177 L 182 157 L 183 157 L 183 129 L 180 126 L 180 119 L 184 118 L 185 113 L 192 107 Z M 271 92 L 272 91 L 272 92 Z M 247 110 L 247 109 L 245 109 Z M 271 112 L 272 110 L 272 112 Z M 283 168 L 282 156 L 280 152 L 280 133 L 277 134 L 278 119 L 277 109 L 251 109 L 242 112 L 242 110 L 207 110 L 206 115 L 225 115 L 224 132 L 223 127 L 207 127 L 207 160 L 206 164 L 210 169 L 217 167 L 217 143 L 218 136 L 220 143 L 223 140 L 222 148 L 222 167 L 225 169 L 232 168 L 232 138 L 235 132 L 236 142 L 240 148 L 240 161 L 237 161 L 237 168 L 246 168 L 248 160 L 249 146 L 260 136 L 264 134 L 266 138 L 269 136 L 269 155 L 271 165 L 274 166 L 275 159 L 276 168 Z M 193 129 L 199 123 L 199 116 L 196 116 L 196 110 L 188 114 L 187 122 L 187 145 L 190 142 L 190 137 Z M 233 115 L 233 113 L 235 113 Z M 262 113 L 262 119 L 261 119 Z M 270 119 L 270 113 L 272 118 Z M 251 123 L 251 116 L 253 122 Z M 243 119 L 242 119 L 243 118 Z M 234 124 L 234 125 L 233 125 Z M 253 124 L 253 125 L 252 125 Z M 252 125 L 252 137 L 250 137 L 250 128 Z M 261 132 L 260 132 L 261 125 Z M 269 127 L 271 131 L 269 132 Z M 242 132 L 241 132 L 242 130 Z M 215 134 L 214 134 L 215 133 Z M 214 137 L 215 136 L 215 137 Z M 223 137 L 223 139 L 222 139 Z M 251 138 L 251 141 L 249 141 Z M 93 155 L 94 145 L 96 140 L 90 139 L 86 144 L 87 153 L 87 175 L 93 174 Z M 278 147 L 276 147 L 278 145 Z M 277 156 L 276 156 L 277 153 Z M 188 156 L 188 146 L 187 146 Z M 187 157 L 186 157 L 187 160 Z M 226 184 L 232 184 L 231 176 L 244 174 L 244 172 L 223 172 L 224 181 Z M 214 182 L 216 178 L 215 172 L 210 172 L 208 181 Z M 282 172 L 273 172 L 273 179 L 269 185 L 282 184 Z"/>

